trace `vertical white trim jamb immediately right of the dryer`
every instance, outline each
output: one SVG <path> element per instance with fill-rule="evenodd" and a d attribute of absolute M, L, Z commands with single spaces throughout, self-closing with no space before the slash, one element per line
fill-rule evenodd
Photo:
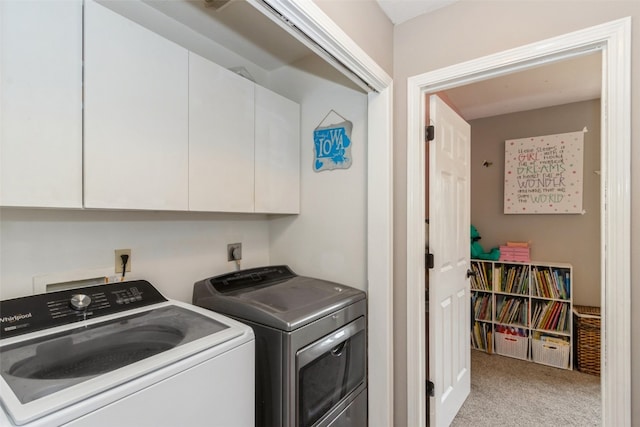
<path fill-rule="evenodd" d="M 369 425 L 393 425 L 393 87 L 369 94 Z M 388 120 L 384 120 L 388 117 Z M 371 374 L 373 373 L 373 375 Z"/>

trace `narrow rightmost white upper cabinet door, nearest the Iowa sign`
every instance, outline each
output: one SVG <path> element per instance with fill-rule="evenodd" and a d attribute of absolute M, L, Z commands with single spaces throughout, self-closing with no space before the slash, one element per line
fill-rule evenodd
<path fill-rule="evenodd" d="M 300 212 L 300 105 L 256 86 L 255 211 Z"/>

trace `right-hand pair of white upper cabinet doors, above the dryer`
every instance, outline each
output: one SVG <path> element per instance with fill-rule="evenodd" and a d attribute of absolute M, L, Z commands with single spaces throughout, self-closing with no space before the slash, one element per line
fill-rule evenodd
<path fill-rule="evenodd" d="M 189 209 L 300 211 L 300 106 L 193 53 Z"/>

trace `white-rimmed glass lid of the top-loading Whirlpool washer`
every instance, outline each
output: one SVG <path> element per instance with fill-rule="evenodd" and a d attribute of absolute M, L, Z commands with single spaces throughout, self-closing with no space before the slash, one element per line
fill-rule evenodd
<path fill-rule="evenodd" d="M 21 425 L 233 340 L 247 329 L 174 301 L 5 339 L 0 343 L 2 404 Z"/>

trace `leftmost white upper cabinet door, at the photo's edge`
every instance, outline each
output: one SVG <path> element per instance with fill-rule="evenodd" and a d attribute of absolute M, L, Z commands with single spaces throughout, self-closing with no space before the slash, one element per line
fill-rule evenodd
<path fill-rule="evenodd" d="M 0 205 L 82 206 L 82 2 L 0 1 Z"/>

